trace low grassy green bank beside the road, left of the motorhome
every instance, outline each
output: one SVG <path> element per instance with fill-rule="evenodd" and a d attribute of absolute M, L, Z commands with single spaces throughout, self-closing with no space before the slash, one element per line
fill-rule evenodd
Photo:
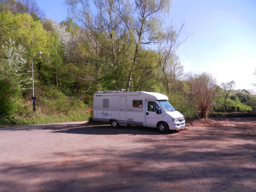
<path fill-rule="evenodd" d="M 76 98 L 67 97 L 58 90 L 44 92 L 36 102 L 35 119 L 32 102 L 21 99 L 14 115 L 0 117 L 0 127 L 87 121 L 90 118 L 90 105 L 85 105 Z"/>

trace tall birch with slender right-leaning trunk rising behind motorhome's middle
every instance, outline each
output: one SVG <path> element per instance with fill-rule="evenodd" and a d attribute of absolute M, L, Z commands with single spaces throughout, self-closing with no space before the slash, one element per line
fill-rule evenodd
<path fill-rule="evenodd" d="M 132 9 L 132 6 L 130 7 Z M 170 0 L 135 0 L 134 11 L 129 10 L 128 13 L 119 11 L 120 16 L 124 20 L 125 26 L 133 37 L 135 44 L 132 66 L 129 69 L 129 79 L 126 86 L 127 91 L 130 89 L 132 74 L 134 69 L 136 69 L 140 45 L 156 43 L 158 40 L 157 33 L 159 33 L 159 29 L 162 25 L 160 15 L 161 13 L 167 13 L 170 7 Z M 131 20 L 127 18 L 131 18 Z"/>

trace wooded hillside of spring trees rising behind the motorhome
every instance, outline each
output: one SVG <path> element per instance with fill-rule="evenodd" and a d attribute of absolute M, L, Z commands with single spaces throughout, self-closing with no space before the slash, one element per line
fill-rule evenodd
<path fill-rule="evenodd" d="M 233 100 L 255 110 L 234 81 L 184 72 L 175 52 L 191 34 L 184 21 L 163 22 L 170 0 L 93 3 L 65 0 L 69 16 L 57 22 L 35 0 L 0 0 L 1 126 L 88 120 L 93 93 L 115 89 L 163 93 L 186 119 L 207 117 L 221 99 L 222 109 Z"/>

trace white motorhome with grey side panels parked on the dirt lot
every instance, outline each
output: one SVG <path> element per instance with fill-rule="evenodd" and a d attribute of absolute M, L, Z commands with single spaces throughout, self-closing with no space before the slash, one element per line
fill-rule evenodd
<path fill-rule="evenodd" d="M 127 125 L 157 127 L 162 133 L 185 126 L 184 116 L 156 92 L 100 91 L 93 95 L 93 120 L 111 123 L 113 128 Z"/>

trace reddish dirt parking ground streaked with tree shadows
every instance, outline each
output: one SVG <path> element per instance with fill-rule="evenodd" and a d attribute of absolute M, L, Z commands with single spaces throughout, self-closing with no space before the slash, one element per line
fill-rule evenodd
<path fill-rule="evenodd" d="M 0 191 L 256 191 L 256 118 L 0 128 Z"/>

